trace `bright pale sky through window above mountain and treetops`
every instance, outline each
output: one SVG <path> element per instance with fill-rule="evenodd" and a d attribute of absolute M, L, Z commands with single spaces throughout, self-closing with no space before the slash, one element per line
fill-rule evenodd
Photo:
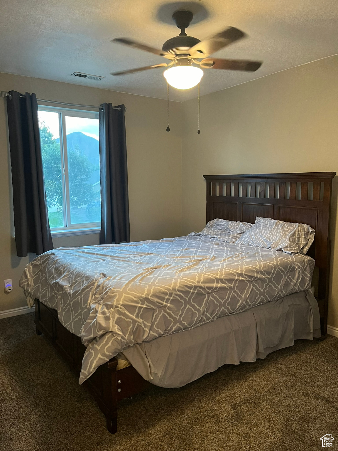
<path fill-rule="evenodd" d="M 59 115 L 54 111 L 39 111 L 39 123 L 46 122 L 53 133 L 53 138 L 59 138 Z M 99 140 L 99 120 L 83 117 L 66 116 L 66 133 L 82 132 Z"/>

